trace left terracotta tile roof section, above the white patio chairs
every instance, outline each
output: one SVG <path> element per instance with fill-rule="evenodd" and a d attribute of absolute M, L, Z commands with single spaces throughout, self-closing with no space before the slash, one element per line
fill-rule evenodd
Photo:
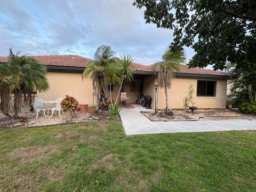
<path fill-rule="evenodd" d="M 91 59 L 79 55 L 42 55 L 29 56 L 36 59 L 42 65 L 63 67 L 86 67 Z M 8 57 L 0 57 L 0 62 L 7 62 Z"/>

